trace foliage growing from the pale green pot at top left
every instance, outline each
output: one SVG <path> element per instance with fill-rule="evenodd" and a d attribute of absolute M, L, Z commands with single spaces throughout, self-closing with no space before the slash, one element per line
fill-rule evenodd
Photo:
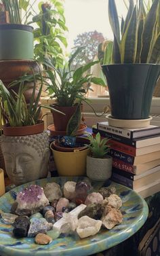
<path fill-rule="evenodd" d="M 9 14 L 9 23 L 26 24 L 35 1 L 30 4 L 29 0 L 1 0 L 1 3 Z"/>

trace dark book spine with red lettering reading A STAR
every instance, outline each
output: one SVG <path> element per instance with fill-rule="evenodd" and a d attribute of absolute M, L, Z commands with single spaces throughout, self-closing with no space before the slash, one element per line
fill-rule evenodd
<path fill-rule="evenodd" d="M 136 166 L 131 164 L 127 164 L 117 158 L 113 158 L 113 167 L 118 168 L 120 170 L 124 170 L 125 172 L 130 172 L 136 175 Z"/>

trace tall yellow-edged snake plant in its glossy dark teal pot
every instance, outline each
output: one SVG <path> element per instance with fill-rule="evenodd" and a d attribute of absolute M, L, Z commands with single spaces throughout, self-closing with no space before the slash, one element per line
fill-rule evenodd
<path fill-rule="evenodd" d="M 144 1 L 129 1 L 125 20 L 115 0 L 108 0 L 113 30 L 113 64 L 102 65 L 111 100 L 111 115 L 120 120 L 148 119 L 160 73 L 159 0 L 146 13 Z M 121 28 L 121 29 L 120 29 Z"/>

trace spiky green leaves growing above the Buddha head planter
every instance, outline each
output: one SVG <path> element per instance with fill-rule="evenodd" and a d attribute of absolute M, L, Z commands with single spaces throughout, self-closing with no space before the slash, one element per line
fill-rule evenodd
<path fill-rule="evenodd" d="M 28 87 L 25 85 L 26 82 L 34 82 L 33 93 L 28 104 L 26 104 L 24 98 L 24 92 L 28 90 Z M 41 107 L 45 107 L 39 105 L 43 81 L 41 80 L 41 86 L 36 99 L 35 75 L 24 75 L 18 81 L 14 81 L 9 87 L 11 89 L 16 85 L 18 85 L 17 93 L 13 89 L 7 90 L 0 80 L 0 124 L 9 124 L 9 126 L 31 126 L 37 124 L 39 122 Z M 46 106 L 46 108 L 56 111 L 51 107 Z"/>

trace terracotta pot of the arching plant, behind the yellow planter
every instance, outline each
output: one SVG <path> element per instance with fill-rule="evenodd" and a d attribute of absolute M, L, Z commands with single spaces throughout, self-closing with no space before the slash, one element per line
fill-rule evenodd
<path fill-rule="evenodd" d="M 61 115 L 60 113 L 57 113 L 55 111 L 52 111 L 52 115 L 54 118 L 54 128 L 56 131 L 65 131 L 66 126 L 68 124 L 68 121 L 72 117 L 73 113 L 75 113 L 77 106 L 72 107 L 59 107 L 57 105 L 50 105 L 51 107 L 54 107 L 54 109 L 57 109 L 58 111 L 61 111 L 65 115 Z"/>

